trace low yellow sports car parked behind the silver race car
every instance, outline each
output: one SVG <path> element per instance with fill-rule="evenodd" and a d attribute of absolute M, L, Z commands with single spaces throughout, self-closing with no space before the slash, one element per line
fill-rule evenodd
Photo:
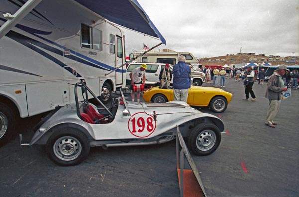
<path fill-rule="evenodd" d="M 214 112 L 223 112 L 232 100 L 233 94 L 220 88 L 191 86 L 187 103 L 191 106 L 210 107 Z M 146 90 L 143 94 L 145 102 L 165 103 L 173 101 L 173 89 L 171 86 L 157 86 Z"/>

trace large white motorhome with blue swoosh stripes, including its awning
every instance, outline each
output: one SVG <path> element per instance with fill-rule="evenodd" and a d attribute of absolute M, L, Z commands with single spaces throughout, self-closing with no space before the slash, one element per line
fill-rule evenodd
<path fill-rule="evenodd" d="M 116 24 L 165 44 L 136 0 L 1 1 L 0 145 L 19 117 L 73 103 L 80 80 L 104 103 L 125 87 L 124 32 Z"/>

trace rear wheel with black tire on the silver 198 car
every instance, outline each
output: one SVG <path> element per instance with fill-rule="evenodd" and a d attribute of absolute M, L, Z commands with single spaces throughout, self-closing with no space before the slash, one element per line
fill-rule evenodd
<path fill-rule="evenodd" d="M 89 154 L 89 141 L 85 134 L 74 128 L 53 129 L 46 150 L 50 159 L 60 166 L 81 163 Z"/>

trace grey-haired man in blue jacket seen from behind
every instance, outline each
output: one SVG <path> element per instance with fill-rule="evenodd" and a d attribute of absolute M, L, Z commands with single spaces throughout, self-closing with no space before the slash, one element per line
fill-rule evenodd
<path fill-rule="evenodd" d="M 191 87 L 191 69 L 185 64 L 186 57 L 178 57 L 178 63 L 173 66 L 173 93 L 175 101 L 187 102 L 188 89 Z"/>

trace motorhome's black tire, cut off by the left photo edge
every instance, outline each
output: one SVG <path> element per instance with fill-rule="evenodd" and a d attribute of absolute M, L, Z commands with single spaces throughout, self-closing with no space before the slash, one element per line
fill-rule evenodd
<path fill-rule="evenodd" d="M 8 142 L 15 132 L 16 117 L 7 105 L 0 103 L 0 147 Z"/>

